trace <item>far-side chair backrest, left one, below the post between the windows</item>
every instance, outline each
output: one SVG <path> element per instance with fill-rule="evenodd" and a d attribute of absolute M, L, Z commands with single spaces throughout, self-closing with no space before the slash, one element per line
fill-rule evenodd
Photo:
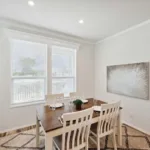
<path fill-rule="evenodd" d="M 49 94 L 49 95 L 45 95 L 45 99 L 46 99 L 46 105 L 49 104 L 53 104 L 54 102 L 56 102 L 58 99 L 64 99 L 64 94 Z"/>

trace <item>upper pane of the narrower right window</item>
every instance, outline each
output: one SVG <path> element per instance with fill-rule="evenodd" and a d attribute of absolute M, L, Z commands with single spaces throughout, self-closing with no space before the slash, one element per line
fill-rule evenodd
<path fill-rule="evenodd" d="M 75 52 L 61 47 L 52 51 L 52 76 L 66 77 L 75 75 Z"/>

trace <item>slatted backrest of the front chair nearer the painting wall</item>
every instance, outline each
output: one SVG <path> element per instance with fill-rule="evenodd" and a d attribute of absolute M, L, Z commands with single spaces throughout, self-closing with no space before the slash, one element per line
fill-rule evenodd
<path fill-rule="evenodd" d="M 101 105 L 101 113 L 97 127 L 97 133 L 99 135 L 107 135 L 115 130 L 119 109 L 120 101 Z"/>

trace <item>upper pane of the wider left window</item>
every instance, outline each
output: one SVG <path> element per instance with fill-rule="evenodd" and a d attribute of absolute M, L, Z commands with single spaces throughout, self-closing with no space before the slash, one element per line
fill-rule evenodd
<path fill-rule="evenodd" d="M 46 76 L 46 50 L 46 44 L 11 40 L 12 75 Z"/>

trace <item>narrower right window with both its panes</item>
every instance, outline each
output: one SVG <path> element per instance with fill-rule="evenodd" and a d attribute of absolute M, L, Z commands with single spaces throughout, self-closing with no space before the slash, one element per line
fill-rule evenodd
<path fill-rule="evenodd" d="M 76 90 L 76 51 L 52 46 L 52 93 L 68 96 Z"/>

